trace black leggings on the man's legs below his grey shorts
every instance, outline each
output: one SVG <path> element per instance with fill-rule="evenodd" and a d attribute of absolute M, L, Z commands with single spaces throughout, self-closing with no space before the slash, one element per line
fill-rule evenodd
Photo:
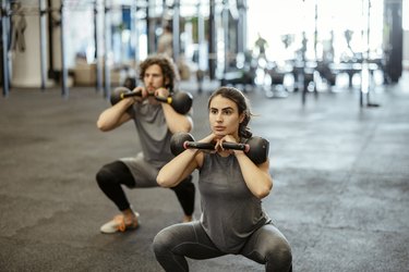
<path fill-rule="evenodd" d="M 115 161 L 104 165 L 97 173 L 96 180 L 104 194 L 113 201 L 120 211 L 131 207 L 121 185 L 129 188 L 135 187 L 136 183 L 131 171 L 122 161 Z M 185 215 L 192 215 L 194 211 L 195 187 L 192 176 L 188 176 L 178 186 L 171 188 L 182 206 Z"/>

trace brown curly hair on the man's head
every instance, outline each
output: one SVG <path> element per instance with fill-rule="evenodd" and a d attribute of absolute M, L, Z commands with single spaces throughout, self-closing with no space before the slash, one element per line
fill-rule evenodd
<path fill-rule="evenodd" d="M 149 55 L 143 62 L 140 63 L 140 79 L 143 81 L 145 71 L 147 67 L 157 64 L 160 66 L 164 73 L 165 79 L 169 79 L 169 83 L 165 86 L 170 92 L 173 91 L 176 83 L 179 82 L 179 72 L 175 62 L 165 54 Z"/>

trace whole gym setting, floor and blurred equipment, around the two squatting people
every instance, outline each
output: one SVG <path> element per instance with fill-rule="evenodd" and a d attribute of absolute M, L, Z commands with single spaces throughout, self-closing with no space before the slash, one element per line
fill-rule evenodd
<path fill-rule="evenodd" d="M 0 271 L 160 271 L 152 239 L 179 222 L 177 199 L 129 190 L 141 228 L 101 235 L 117 210 L 95 173 L 141 147 L 133 124 L 106 134 L 95 122 L 116 87 L 141 84 L 139 62 L 171 28 L 166 48 L 194 96 L 196 138 L 208 134 L 210 91 L 246 91 L 251 128 L 270 141 L 274 193 L 263 205 L 294 271 L 408 272 L 408 9 L 409 0 L 1 0 Z M 264 271 L 231 255 L 190 264 Z"/>

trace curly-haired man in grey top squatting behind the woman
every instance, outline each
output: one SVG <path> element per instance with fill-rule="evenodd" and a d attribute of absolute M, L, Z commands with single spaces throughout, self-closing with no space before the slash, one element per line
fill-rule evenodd
<path fill-rule="evenodd" d="M 105 110 L 97 126 L 103 132 L 112 131 L 128 121 L 134 121 L 142 151 L 135 157 L 121 158 L 104 165 L 96 175 L 99 188 L 113 201 L 121 213 L 100 227 L 103 233 L 136 228 L 139 213 L 130 205 L 122 186 L 129 188 L 156 187 L 160 168 L 170 161 L 170 137 L 176 132 L 190 132 L 193 127 L 189 114 L 180 114 L 155 97 L 168 97 L 179 78 L 177 69 L 168 57 L 151 55 L 140 64 L 140 79 L 144 86 L 133 91 L 141 96 L 120 100 Z M 183 208 L 183 222 L 192 221 L 195 187 L 192 176 L 172 188 Z"/>

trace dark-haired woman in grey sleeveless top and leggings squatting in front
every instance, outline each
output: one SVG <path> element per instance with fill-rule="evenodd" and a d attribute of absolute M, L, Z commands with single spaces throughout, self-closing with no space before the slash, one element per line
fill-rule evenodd
<path fill-rule="evenodd" d="M 257 149 L 254 146 L 227 149 L 252 138 L 246 98 L 236 88 L 221 87 L 208 100 L 208 116 L 212 133 L 199 143 L 212 144 L 213 151 L 183 144 L 190 147 L 157 176 L 159 185 L 171 187 L 199 169 L 201 219 L 160 231 L 153 244 L 156 259 L 175 272 L 189 271 L 185 257 L 201 260 L 233 254 L 264 264 L 266 271 L 291 271 L 290 245 L 262 207 L 261 199 L 273 187 L 268 157 L 261 149 L 252 160 L 245 150 Z"/>

